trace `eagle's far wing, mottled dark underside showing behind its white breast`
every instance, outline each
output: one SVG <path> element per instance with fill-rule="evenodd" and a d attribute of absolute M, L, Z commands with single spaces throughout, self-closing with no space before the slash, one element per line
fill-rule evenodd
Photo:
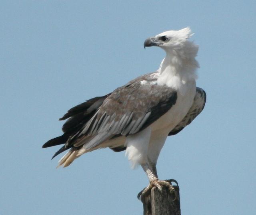
<path fill-rule="evenodd" d="M 194 103 L 188 110 L 186 116 L 181 122 L 175 126 L 175 128 L 168 134 L 168 136 L 175 135 L 180 132 L 183 128 L 189 125 L 195 118 L 202 112 L 206 103 L 206 93 L 203 89 L 196 87 L 196 95 L 194 97 Z"/>

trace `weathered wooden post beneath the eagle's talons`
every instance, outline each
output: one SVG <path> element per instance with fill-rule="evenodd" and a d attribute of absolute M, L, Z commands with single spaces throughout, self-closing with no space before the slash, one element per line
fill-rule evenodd
<path fill-rule="evenodd" d="M 171 182 L 172 180 L 166 180 Z M 180 189 L 174 185 L 177 193 L 171 194 L 166 187 L 163 187 L 162 193 L 153 187 L 148 196 L 141 199 L 143 203 L 143 215 L 180 215 Z M 175 200 L 174 200 L 175 199 Z"/>

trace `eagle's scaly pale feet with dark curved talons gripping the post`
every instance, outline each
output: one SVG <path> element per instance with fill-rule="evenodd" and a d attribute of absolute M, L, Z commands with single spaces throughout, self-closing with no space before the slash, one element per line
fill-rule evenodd
<path fill-rule="evenodd" d="M 171 179 L 171 181 L 177 183 L 176 180 L 172 180 L 172 179 Z M 178 185 L 178 183 L 177 183 L 177 185 Z M 164 181 L 164 180 L 154 180 L 154 181 L 150 181 L 149 185 L 148 185 L 147 187 L 145 187 L 142 191 L 140 191 L 140 192 L 138 193 L 137 198 L 138 198 L 139 200 L 144 199 L 144 197 L 148 195 L 148 193 L 151 191 L 151 189 L 152 189 L 153 187 L 157 187 L 157 189 L 160 191 L 160 193 L 162 193 L 162 191 L 163 191 L 162 186 L 167 187 L 167 188 L 168 188 L 168 191 L 169 191 L 170 193 L 174 193 L 174 195 L 175 195 L 174 200 L 177 199 L 177 193 L 176 193 L 174 187 L 172 186 L 172 183 L 171 183 L 171 182 L 168 182 L 168 181 Z M 173 200 L 173 201 L 174 201 L 174 200 Z"/>

